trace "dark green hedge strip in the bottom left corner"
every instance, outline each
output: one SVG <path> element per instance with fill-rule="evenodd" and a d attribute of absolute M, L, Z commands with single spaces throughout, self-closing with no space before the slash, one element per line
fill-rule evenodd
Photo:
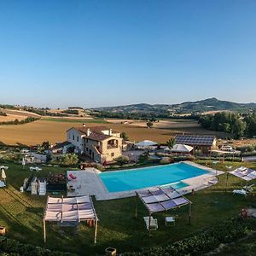
<path fill-rule="evenodd" d="M 52 252 L 48 249 L 35 247 L 31 244 L 24 244 L 5 236 L 0 236 L 0 252 L 1 251 L 3 251 L 5 255 L 15 256 L 77 256 L 77 254 L 73 253 Z"/>

